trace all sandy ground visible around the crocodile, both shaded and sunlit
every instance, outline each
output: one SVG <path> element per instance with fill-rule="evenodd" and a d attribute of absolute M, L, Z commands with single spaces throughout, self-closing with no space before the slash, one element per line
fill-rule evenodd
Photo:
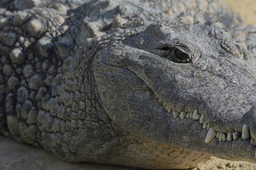
<path fill-rule="evenodd" d="M 256 23 L 256 0 L 224 0 L 244 23 Z M 139 170 L 114 165 L 63 162 L 44 150 L 0 136 L 0 170 Z M 256 170 L 256 164 L 243 161 L 214 161 L 192 170 Z"/>

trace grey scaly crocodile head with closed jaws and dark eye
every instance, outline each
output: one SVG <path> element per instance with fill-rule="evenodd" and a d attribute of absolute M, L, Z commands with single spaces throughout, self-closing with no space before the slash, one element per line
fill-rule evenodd
<path fill-rule="evenodd" d="M 255 64 L 217 20 L 138 28 L 96 54 L 93 75 L 105 111 L 123 130 L 256 162 Z"/>

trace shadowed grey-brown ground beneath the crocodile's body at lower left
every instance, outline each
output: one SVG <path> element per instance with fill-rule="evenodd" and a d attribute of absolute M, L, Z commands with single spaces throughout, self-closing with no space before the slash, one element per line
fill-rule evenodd
<path fill-rule="evenodd" d="M 139 170 L 139 168 L 64 162 L 45 150 L 0 136 L 0 170 Z"/>

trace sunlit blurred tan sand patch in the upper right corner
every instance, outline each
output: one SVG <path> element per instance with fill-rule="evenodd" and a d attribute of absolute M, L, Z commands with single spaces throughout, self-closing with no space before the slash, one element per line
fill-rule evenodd
<path fill-rule="evenodd" d="M 240 15 L 244 23 L 256 23 L 256 0 L 224 0 L 224 2 Z"/>

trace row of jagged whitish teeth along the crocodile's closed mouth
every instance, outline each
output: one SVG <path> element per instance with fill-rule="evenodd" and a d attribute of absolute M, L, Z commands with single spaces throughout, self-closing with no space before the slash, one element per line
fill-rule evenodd
<path fill-rule="evenodd" d="M 250 144 L 253 146 L 256 146 L 256 140 L 253 139 L 253 137 L 250 135 L 249 128 L 246 124 L 243 125 L 242 132 L 228 132 L 228 133 L 222 133 L 218 130 L 214 130 L 205 120 L 204 113 L 201 114 L 198 112 L 198 109 L 193 112 L 185 112 L 185 111 L 175 111 L 168 105 L 166 105 L 161 99 L 158 98 L 155 94 L 153 94 L 154 99 L 157 100 L 158 103 L 162 104 L 163 107 L 166 108 L 168 113 L 172 113 L 174 119 L 192 119 L 195 121 L 199 121 L 201 125 L 203 125 L 203 129 L 207 129 L 207 136 L 205 139 L 205 143 L 209 143 L 214 139 L 215 137 L 218 139 L 219 142 L 232 142 L 233 140 L 238 140 L 239 138 L 242 138 L 243 140 L 250 140 Z M 255 153 L 256 154 L 256 153 Z M 256 157 L 256 155 L 255 155 Z"/>

